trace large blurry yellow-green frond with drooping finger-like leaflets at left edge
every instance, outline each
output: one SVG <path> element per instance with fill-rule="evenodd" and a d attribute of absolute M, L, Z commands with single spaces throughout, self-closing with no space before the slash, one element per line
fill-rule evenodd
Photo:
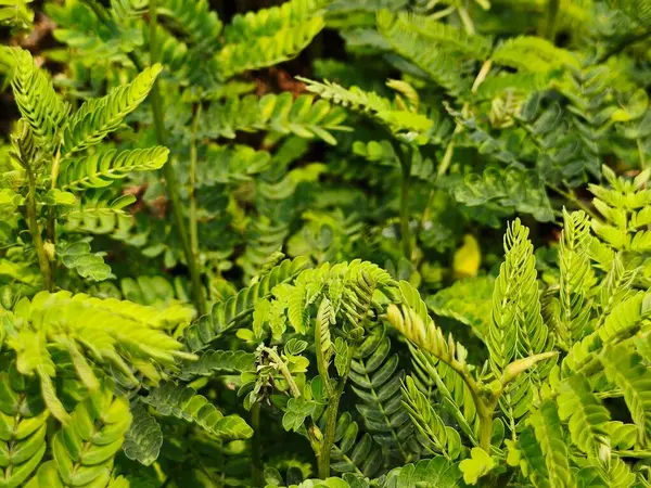
<path fill-rule="evenodd" d="M 51 383 L 55 369 L 47 344 L 58 344 L 71 354 L 77 375 L 89 389 L 97 387 L 97 378 L 86 355 L 99 365 L 114 367 L 130 385 L 140 383 L 133 370 L 155 383 L 164 367 L 174 368 L 177 359 L 192 358 L 164 331 L 179 321 L 189 322 L 190 317 L 189 310 L 170 309 L 169 313 L 130 301 L 40 292 L 31 301 L 23 298 L 8 316 L 22 324 L 10 334 L 8 344 L 16 351 L 18 371 L 39 375 L 48 408 L 65 421 L 67 413 Z"/>

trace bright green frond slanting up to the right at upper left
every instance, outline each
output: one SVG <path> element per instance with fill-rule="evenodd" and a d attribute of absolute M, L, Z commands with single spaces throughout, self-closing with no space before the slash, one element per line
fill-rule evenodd
<path fill-rule="evenodd" d="M 63 130 L 65 156 L 97 144 L 116 130 L 124 118 L 146 98 L 163 67 L 145 68 L 130 84 L 114 88 L 101 99 L 91 99 L 71 117 Z"/>

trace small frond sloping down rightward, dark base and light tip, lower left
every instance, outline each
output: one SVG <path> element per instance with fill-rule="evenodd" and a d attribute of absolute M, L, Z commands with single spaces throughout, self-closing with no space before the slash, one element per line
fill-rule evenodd
<path fill-rule="evenodd" d="M 206 397 L 189 386 L 165 383 L 142 401 L 162 415 L 174 415 L 196 424 L 219 439 L 246 439 L 253 435 L 253 429 L 240 415 L 225 416 Z"/>

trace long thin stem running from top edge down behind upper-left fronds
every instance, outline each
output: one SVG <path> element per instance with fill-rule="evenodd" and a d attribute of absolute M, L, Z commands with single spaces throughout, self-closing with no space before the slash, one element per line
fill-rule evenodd
<path fill-rule="evenodd" d="M 158 43 L 156 42 L 156 29 L 157 23 L 157 0 L 150 0 L 150 63 L 153 65 L 159 60 Z M 154 128 L 156 131 L 156 140 L 158 144 L 165 145 L 165 123 L 163 120 L 163 100 L 161 98 L 161 91 L 158 89 L 158 80 L 154 81 L 154 86 L 151 91 L 152 110 L 154 114 Z M 186 219 L 183 218 L 182 202 L 179 195 L 178 182 L 171 165 L 171 159 L 168 160 L 163 167 L 163 175 L 167 182 L 167 193 L 169 194 L 169 201 L 171 203 L 171 213 L 175 220 L 177 233 L 183 247 L 183 254 L 186 256 L 186 264 L 190 272 L 190 281 L 192 283 L 192 292 L 194 295 L 194 303 L 200 316 L 206 313 L 206 298 L 203 293 L 201 284 L 201 275 L 199 266 L 194 254 L 192 253 L 192 246 L 188 239 L 188 229 L 186 226 Z"/>

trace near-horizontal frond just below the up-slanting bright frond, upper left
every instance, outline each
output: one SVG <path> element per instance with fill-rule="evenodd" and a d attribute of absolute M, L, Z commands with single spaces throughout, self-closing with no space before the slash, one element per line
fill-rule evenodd
<path fill-rule="evenodd" d="M 61 165 L 59 188 L 76 191 L 108 187 L 113 181 L 126 178 L 130 171 L 161 169 L 168 155 L 167 147 L 157 145 L 120 153 L 110 150 L 78 159 L 66 159 Z"/>

